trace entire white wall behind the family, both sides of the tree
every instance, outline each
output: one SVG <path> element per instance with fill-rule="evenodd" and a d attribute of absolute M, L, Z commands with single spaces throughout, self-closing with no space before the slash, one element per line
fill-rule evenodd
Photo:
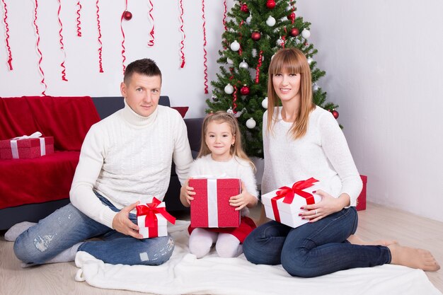
<path fill-rule="evenodd" d="M 180 69 L 178 1 L 153 1 L 156 44 L 149 40 L 149 1 L 128 1 L 124 23 L 127 62 L 151 57 L 163 71 L 164 95 L 189 105 L 187 117 L 205 110 L 202 2 L 183 0 L 186 65 Z M 233 5 L 228 0 L 228 8 Z M 40 95 L 33 29 L 34 1 L 6 0 L 13 71 L 0 38 L 0 96 Z M 122 80 L 120 16 L 124 1 L 100 1 L 103 68 L 98 73 L 95 1 L 81 1 L 83 37 L 76 37 L 76 1 L 62 0 L 67 79 L 56 0 L 39 1 L 42 69 L 51 96 L 118 96 Z M 368 200 L 443 221 L 443 2 L 299 0 L 297 15 L 310 21 L 310 42 L 326 77 L 328 98 L 340 105 L 339 122 L 360 173 L 368 175 Z M 3 9 L 0 6 L 3 19 Z M 209 81 L 218 71 L 224 30 L 223 1 L 205 1 Z M 0 22 L 0 35 L 4 26 Z M 209 82 L 208 82 L 209 83 Z"/>

